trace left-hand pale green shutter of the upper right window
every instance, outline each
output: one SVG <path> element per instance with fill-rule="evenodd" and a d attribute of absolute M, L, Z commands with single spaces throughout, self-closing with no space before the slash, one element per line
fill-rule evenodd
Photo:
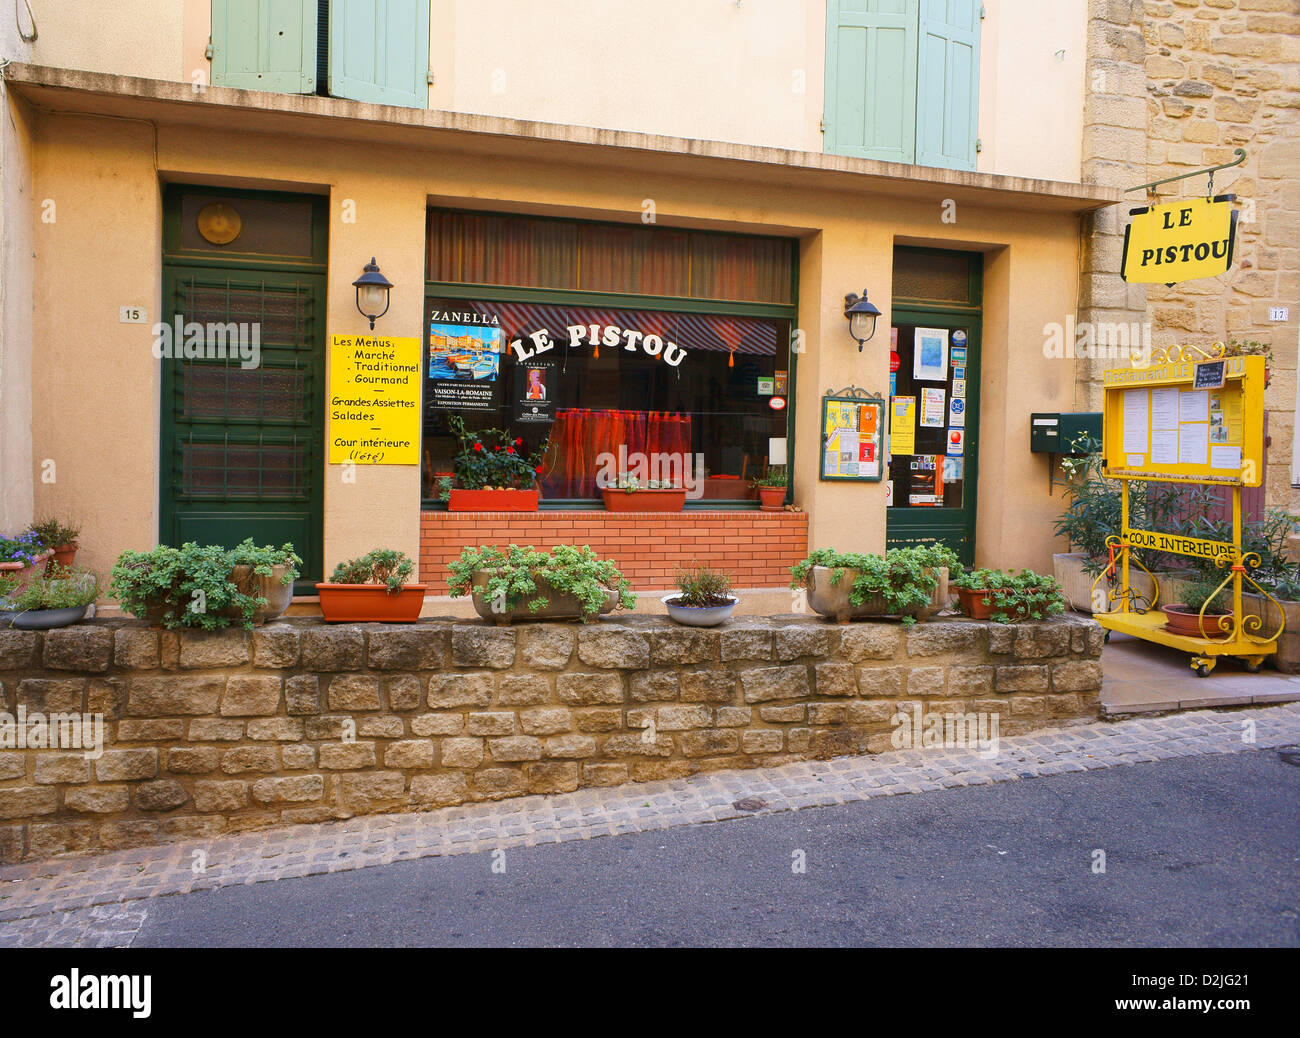
<path fill-rule="evenodd" d="M 826 150 L 915 160 L 918 0 L 828 0 Z"/>

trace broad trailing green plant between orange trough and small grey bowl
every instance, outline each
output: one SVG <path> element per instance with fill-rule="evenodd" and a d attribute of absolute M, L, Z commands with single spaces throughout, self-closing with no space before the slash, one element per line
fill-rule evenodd
<path fill-rule="evenodd" d="M 599 558 L 588 545 L 562 544 L 547 552 L 530 545 L 510 545 L 506 550 L 493 545 L 465 548 L 460 558 L 447 563 L 451 597 L 481 593 L 497 609 L 510 613 L 526 605 L 537 613 L 550 605 L 550 600 L 537 587 L 537 579 L 558 594 L 572 594 L 581 604 L 582 622 L 589 623 L 601 614 L 608 592 L 619 594 L 619 605 L 636 609 L 637 598 L 630 581 L 619 572 L 611 559 Z M 474 574 L 485 574 L 486 583 L 474 587 Z"/>

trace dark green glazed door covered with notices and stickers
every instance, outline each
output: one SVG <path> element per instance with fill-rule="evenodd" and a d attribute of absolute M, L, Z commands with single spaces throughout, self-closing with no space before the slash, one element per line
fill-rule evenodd
<path fill-rule="evenodd" d="M 946 544 L 966 566 L 975 565 L 975 486 L 979 463 L 979 360 L 978 313 L 913 308 L 894 304 L 893 326 L 898 329 L 896 394 L 914 397 L 915 453 L 890 454 L 892 506 L 885 518 L 885 545 Z M 948 362 L 942 380 L 915 379 L 918 329 L 948 333 Z M 932 336 L 931 336 L 932 338 Z M 963 351 L 957 364 L 954 350 Z M 961 355 L 961 354 L 959 354 Z M 941 392 L 942 424 L 923 427 L 926 392 Z M 961 402 L 954 414 L 956 402 Z M 959 421 L 962 424 L 956 424 Z M 953 433 L 961 433 L 961 453 Z M 892 437 L 890 437 L 892 450 Z"/>

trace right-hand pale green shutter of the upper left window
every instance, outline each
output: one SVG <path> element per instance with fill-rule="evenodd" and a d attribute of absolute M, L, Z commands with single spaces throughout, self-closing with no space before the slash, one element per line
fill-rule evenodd
<path fill-rule="evenodd" d="M 329 92 L 429 107 L 429 0 L 333 0 Z"/>

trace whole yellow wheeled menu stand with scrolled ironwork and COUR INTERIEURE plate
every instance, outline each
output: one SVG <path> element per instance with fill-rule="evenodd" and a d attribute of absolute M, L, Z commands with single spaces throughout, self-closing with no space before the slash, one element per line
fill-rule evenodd
<path fill-rule="evenodd" d="M 1221 656 L 1239 656 L 1249 671 L 1277 652 L 1278 630 L 1264 633 L 1260 617 L 1245 615 L 1242 592 L 1249 584 L 1257 593 L 1282 606 L 1251 576 L 1261 559 L 1242 552 L 1242 488 L 1258 486 L 1264 458 L 1262 356 L 1226 356 L 1222 342 L 1209 350 L 1199 346 L 1156 349 L 1149 364 L 1113 368 L 1105 373 L 1102 406 L 1102 475 L 1121 483 L 1121 535 L 1106 539 L 1112 562 L 1092 584 L 1093 617 L 1112 631 L 1170 645 L 1191 653 L 1191 667 L 1209 675 Z M 1232 488 L 1232 541 L 1206 541 L 1128 526 L 1128 494 L 1132 481 L 1195 483 Z M 1219 619 L 1196 618 L 1195 635 L 1174 633 L 1169 618 L 1157 609 L 1160 585 L 1136 558 L 1134 548 L 1212 559 L 1223 571 L 1218 591 L 1232 589 L 1232 611 Z M 1132 591 L 1130 566 L 1152 579 L 1153 601 L 1139 607 Z M 1118 587 L 1097 584 L 1118 570 Z M 1218 591 L 1216 594 L 1218 594 Z M 1210 596 L 1213 601 L 1214 596 Z M 1206 606 L 1209 602 L 1206 602 Z"/>

